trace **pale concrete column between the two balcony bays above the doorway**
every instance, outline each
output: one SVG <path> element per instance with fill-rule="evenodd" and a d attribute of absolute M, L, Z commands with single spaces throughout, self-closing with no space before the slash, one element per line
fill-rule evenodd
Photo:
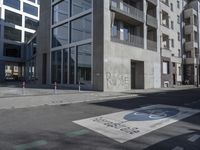
<path fill-rule="evenodd" d="M 144 49 L 147 49 L 147 2 L 146 0 L 143 0 L 143 12 L 144 12 Z"/>

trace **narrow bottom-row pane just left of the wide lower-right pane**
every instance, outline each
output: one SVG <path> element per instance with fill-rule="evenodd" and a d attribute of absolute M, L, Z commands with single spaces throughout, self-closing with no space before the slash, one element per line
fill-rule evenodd
<path fill-rule="evenodd" d="M 76 48 L 70 48 L 69 54 L 69 83 L 75 83 L 75 71 L 76 71 Z"/>

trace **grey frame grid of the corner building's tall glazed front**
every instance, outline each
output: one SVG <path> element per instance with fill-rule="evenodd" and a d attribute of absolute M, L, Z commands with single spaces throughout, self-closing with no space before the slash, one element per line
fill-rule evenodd
<path fill-rule="evenodd" d="M 67 1 L 67 0 L 66 0 Z M 82 0 L 80 1 L 80 0 L 76 0 L 77 2 L 83 2 Z M 69 8 L 68 8 L 68 12 L 65 12 L 65 14 L 70 14 L 69 16 L 67 16 L 67 17 L 64 17 L 64 19 L 63 20 L 59 20 L 58 22 L 56 21 L 54 21 L 54 19 L 55 19 L 55 14 L 54 14 L 54 11 L 53 10 L 55 10 L 54 9 L 54 7 L 56 6 L 56 5 L 59 5 L 59 3 L 61 2 L 61 1 L 59 1 L 59 0 L 57 0 L 57 1 L 52 1 L 52 4 L 51 4 L 51 6 L 52 6 L 52 8 L 51 8 L 51 23 L 52 23 L 52 25 L 51 25 L 51 47 L 52 47 L 52 43 L 53 43 L 53 40 L 54 40 L 54 38 L 53 38 L 53 30 L 55 30 L 57 27 L 59 27 L 59 26 L 62 26 L 63 24 L 68 24 L 68 33 L 67 33 L 67 36 L 65 35 L 65 36 L 63 36 L 64 38 L 66 38 L 67 39 L 67 43 L 65 43 L 64 45 L 58 45 L 58 46 L 53 46 L 52 48 L 51 48 L 51 55 L 54 55 L 53 53 L 55 52 L 55 51 L 57 51 L 57 52 L 61 52 L 61 71 L 60 71 L 60 76 L 59 76 L 59 78 L 58 78 L 58 80 L 57 79 L 55 79 L 55 77 L 54 77 L 54 75 L 53 75 L 53 64 L 51 63 L 51 72 L 52 72 L 52 74 L 51 74 L 51 82 L 52 83 L 54 83 L 54 82 L 58 82 L 58 83 L 60 83 L 60 84 L 78 84 L 78 82 L 80 81 L 80 82 L 82 82 L 81 84 L 88 84 L 88 85 L 92 85 L 92 68 L 93 68 L 93 65 L 92 65 L 92 62 L 93 62 L 93 44 L 92 44 L 92 36 L 93 36 L 93 33 L 92 33 L 92 24 L 93 24 L 93 11 L 92 11 L 92 9 L 93 9 L 93 0 L 89 0 L 90 1 L 90 7 L 88 7 L 87 9 L 85 9 L 85 10 L 83 10 L 83 11 L 80 11 L 80 12 L 78 12 L 78 13 L 75 13 L 75 14 L 73 14 L 72 13 L 72 0 L 68 0 L 68 2 L 69 2 Z M 73 3 L 74 3 L 74 1 L 73 1 Z M 80 5 L 81 6 L 81 5 Z M 86 38 L 83 38 L 83 39 L 79 39 L 78 41 L 72 41 L 72 36 L 71 36 L 71 34 L 72 34 L 72 31 L 71 31 L 71 29 L 72 29 L 72 23 L 74 22 L 74 21 L 76 21 L 76 20 L 78 20 L 78 19 L 80 19 L 80 18 L 84 18 L 84 17 L 86 17 L 86 16 L 90 16 L 90 24 L 91 24 L 91 26 L 90 26 L 90 29 L 91 29 L 91 33 L 90 33 L 90 37 L 86 37 Z M 62 17 L 63 18 L 63 17 Z M 86 19 L 85 19 L 86 20 Z M 55 24 L 56 23 L 56 24 Z M 89 71 L 89 80 L 90 80 L 90 82 L 87 82 L 86 83 L 86 81 L 88 80 L 87 78 L 84 78 L 84 73 L 82 73 L 81 74 L 81 72 L 79 73 L 79 67 L 78 67 L 78 54 L 79 54 L 79 51 L 78 51 L 78 48 L 80 47 L 80 46 L 84 46 L 84 45 L 90 45 L 90 68 L 91 68 L 91 70 Z M 72 53 L 74 51 L 74 53 Z M 63 64 L 63 62 L 65 61 L 65 59 L 66 58 L 64 58 L 64 56 L 66 56 L 66 53 L 68 53 L 68 62 L 67 62 L 67 64 Z M 72 54 L 74 55 L 74 56 L 72 56 Z M 73 57 L 75 57 L 75 64 L 74 64 L 74 70 L 72 71 L 70 71 L 70 69 L 72 69 L 72 68 L 70 68 L 70 65 L 71 65 L 71 59 L 70 58 L 73 58 Z M 51 56 L 51 59 L 52 59 L 52 56 Z M 51 61 L 52 62 L 52 61 Z M 66 69 L 64 68 L 64 67 L 66 67 L 67 66 L 67 71 L 66 71 Z M 67 78 L 66 78 L 66 72 L 67 72 Z M 71 74 L 71 73 L 73 73 L 73 75 Z M 85 72 L 85 71 L 84 71 Z M 85 72 L 85 73 L 87 73 L 87 71 Z M 73 76 L 73 77 L 72 77 Z M 73 80 L 73 81 L 72 81 Z"/>

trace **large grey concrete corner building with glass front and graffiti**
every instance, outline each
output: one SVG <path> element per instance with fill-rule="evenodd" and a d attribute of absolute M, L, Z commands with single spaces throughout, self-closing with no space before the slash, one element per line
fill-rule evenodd
<path fill-rule="evenodd" d="M 38 82 L 101 91 L 161 86 L 158 0 L 41 1 Z"/>

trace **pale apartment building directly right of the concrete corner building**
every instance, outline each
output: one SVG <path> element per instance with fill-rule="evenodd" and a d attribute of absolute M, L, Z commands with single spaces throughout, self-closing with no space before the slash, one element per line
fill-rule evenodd
<path fill-rule="evenodd" d="M 184 0 L 160 1 L 162 87 L 183 82 L 182 39 Z"/>

